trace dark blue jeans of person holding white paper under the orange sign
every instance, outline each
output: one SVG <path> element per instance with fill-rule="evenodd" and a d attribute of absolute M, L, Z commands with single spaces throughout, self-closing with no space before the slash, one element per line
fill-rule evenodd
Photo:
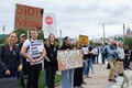
<path fill-rule="evenodd" d="M 85 62 L 85 76 L 88 76 L 90 68 L 94 72 L 92 58 L 87 58 Z"/>

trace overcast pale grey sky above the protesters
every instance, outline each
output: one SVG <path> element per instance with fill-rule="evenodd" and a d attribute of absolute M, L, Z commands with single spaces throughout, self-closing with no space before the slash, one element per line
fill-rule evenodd
<path fill-rule="evenodd" d="M 63 36 L 101 37 L 103 23 L 106 35 L 122 34 L 123 24 L 132 23 L 132 0 L 0 0 L 0 29 L 6 25 L 6 33 L 14 28 L 15 3 L 55 13 Z"/>

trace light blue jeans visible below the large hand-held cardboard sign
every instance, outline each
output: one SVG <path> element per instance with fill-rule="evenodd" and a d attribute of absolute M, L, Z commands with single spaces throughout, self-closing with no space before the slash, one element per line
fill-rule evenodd
<path fill-rule="evenodd" d="M 74 88 L 74 69 L 62 70 L 62 88 Z"/>

